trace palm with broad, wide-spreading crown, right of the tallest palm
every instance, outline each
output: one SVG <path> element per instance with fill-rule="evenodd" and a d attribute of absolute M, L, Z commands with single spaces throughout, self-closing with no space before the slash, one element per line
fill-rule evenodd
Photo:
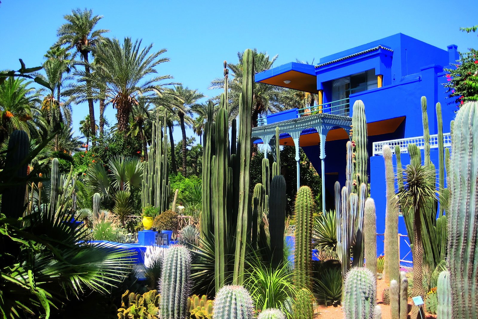
<path fill-rule="evenodd" d="M 161 96 L 164 86 L 173 84 L 159 83 L 171 79 L 169 75 L 149 77 L 158 73 L 156 66 L 169 61 L 169 58 L 160 58 L 166 49 L 150 54 L 151 49 L 152 44 L 141 48 L 141 40 L 132 42 L 131 38 L 125 38 L 120 43 L 118 39 L 105 39 L 101 50 L 95 51 L 96 58 L 101 60 L 97 72 L 85 74 L 96 87 L 104 87 L 104 97 L 118 110 L 120 132 L 128 129 L 132 106 L 139 104 L 140 96 L 145 99 Z"/>

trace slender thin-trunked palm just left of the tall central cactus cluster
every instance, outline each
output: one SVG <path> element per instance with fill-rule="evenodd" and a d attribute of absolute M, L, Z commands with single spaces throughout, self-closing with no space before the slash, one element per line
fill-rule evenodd
<path fill-rule="evenodd" d="M 179 118 L 179 125 L 181 126 L 181 132 L 183 134 L 183 175 L 186 176 L 186 124 L 189 126 L 193 123 L 190 115 L 192 114 L 192 109 L 197 108 L 198 100 L 204 98 L 204 95 L 197 90 L 192 90 L 189 88 L 184 88 L 182 85 L 175 85 L 174 92 L 177 96 L 181 97 L 183 102 L 178 102 L 177 107 L 175 108 L 175 113 Z M 181 104 L 180 104 L 181 103 Z"/>

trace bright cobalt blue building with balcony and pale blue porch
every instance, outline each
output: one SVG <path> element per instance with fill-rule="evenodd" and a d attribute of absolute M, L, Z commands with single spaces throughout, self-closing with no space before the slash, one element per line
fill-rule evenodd
<path fill-rule="evenodd" d="M 291 62 L 256 74 L 255 81 L 283 88 L 309 92 L 318 96 L 317 105 L 269 114 L 253 128 L 255 143 L 271 145 L 276 127 L 280 144 L 299 147 L 307 154 L 323 180 L 322 202 L 333 196 L 336 181 L 345 184 L 345 144 L 356 100 L 365 104 L 369 141 L 370 195 L 377 208 L 377 232 L 385 229 L 385 174 L 381 156 L 384 144 L 400 145 L 402 164 L 409 164 L 407 143 L 423 148 L 423 125 L 420 98 L 428 101 L 428 119 L 432 161 L 437 164 L 437 121 L 435 104 L 440 102 L 443 114 L 445 147 L 449 145 L 450 121 L 456 107 L 446 99 L 444 67 L 459 58 L 456 45 L 441 49 L 402 33 L 328 55 L 318 65 Z M 396 165 L 396 163 L 394 163 Z M 297 165 L 299 167 L 299 165 Z M 297 171 L 297 187 L 300 172 Z M 326 209 L 333 209 L 333 204 Z M 399 232 L 406 234 L 400 218 Z M 402 237 L 401 259 L 410 261 L 408 238 Z M 403 247 L 403 249 L 402 249 Z M 378 254 L 383 242 L 378 240 Z"/>

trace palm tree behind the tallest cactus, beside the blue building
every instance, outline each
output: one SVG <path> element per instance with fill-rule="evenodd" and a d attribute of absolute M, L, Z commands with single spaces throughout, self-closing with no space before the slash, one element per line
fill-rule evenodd
<path fill-rule="evenodd" d="M 269 70 L 277 59 L 278 55 L 272 58 L 265 52 L 253 50 L 254 55 L 254 74 Z M 239 94 L 242 92 L 242 52 L 238 52 L 239 63 L 229 63 L 227 66 L 231 71 L 228 76 L 228 99 L 230 103 L 229 119 L 235 119 L 239 112 Z M 268 112 L 278 112 L 290 109 L 292 106 L 284 105 L 284 97 L 289 94 L 286 89 L 273 85 L 253 82 L 254 96 L 252 105 L 252 127 L 257 126 L 259 114 L 267 114 Z M 210 89 L 224 89 L 224 77 L 216 78 L 211 81 Z M 216 97 L 215 99 L 219 99 Z"/>

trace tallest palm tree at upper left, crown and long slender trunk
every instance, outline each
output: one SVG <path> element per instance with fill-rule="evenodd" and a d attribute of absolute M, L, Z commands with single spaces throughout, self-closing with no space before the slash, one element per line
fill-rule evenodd
<path fill-rule="evenodd" d="M 75 48 L 73 57 L 80 54 L 84 66 L 85 73 L 90 74 L 90 64 L 88 63 L 88 54 L 91 50 L 102 41 L 103 33 L 109 32 L 106 29 L 94 30 L 102 16 L 93 15 L 92 10 L 72 10 L 71 14 L 64 16 L 67 21 L 60 26 L 57 31 L 59 37 L 56 46 L 65 46 L 68 50 Z M 95 130 L 95 109 L 93 107 L 93 97 L 91 94 L 91 82 L 87 78 L 86 88 L 88 92 L 88 109 L 90 116 L 90 129 L 92 136 L 96 136 Z"/>

